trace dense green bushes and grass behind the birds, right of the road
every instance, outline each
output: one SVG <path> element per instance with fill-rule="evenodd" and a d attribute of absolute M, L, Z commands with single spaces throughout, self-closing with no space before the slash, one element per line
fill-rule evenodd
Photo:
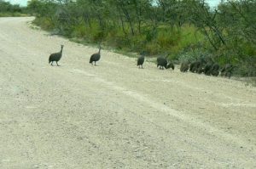
<path fill-rule="evenodd" d="M 32 0 L 34 24 L 80 43 L 125 53 L 164 55 L 180 63 L 212 59 L 256 76 L 256 2 L 227 0 Z"/>

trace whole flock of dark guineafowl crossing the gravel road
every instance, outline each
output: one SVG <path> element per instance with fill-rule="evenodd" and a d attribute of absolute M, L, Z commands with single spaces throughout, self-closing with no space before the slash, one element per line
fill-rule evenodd
<path fill-rule="evenodd" d="M 53 65 L 53 63 L 56 62 L 56 65 L 58 65 L 58 61 L 60 61 L 62 56 L 63 48 L 64 48 L 64 45 L 61 45 L 60 52 L 49 55 L 49 64 L 51 63 L 51 65 Z M 99 51 L 96 54 L 92 54 L 90 56 L 89 63 L 91 65 L 93 65 L 93 62 L 94 62 L 94 65 L 96 65 L 96 62 L 101 59 L 101 49 L 102 47 L 100 44 Z M 144 55 L 138 57 L 137 66 L 143 69 L 144 61 L 145 61 Z M 159 67 L 160 70 L 170 69 L 170 68 L 174 70 L 175 68 L 174 64 L 172 62 L 168 62 L 168 60 L 165 57 L 158 57 L 156 59 L 156 62 L 157 62 L 157 67 Z M 218 63 L 214 63 L 212 60 L 206 62 L 204 59 L 199 59 L 192 63 L 189 63 L 187 61 L 183 62 L 180 66 L 180 71 L 181 72 L 190 71 L 198 74 L 204 73 L 207 76 L 218 76 L 220 74 L 221 76 L 227 76 L 230 78 L 230 76 L 232 76 L 234 68 L 235 66 L 230 64 L 224 65 L 224 67 L 221 68 L 218 65 Z"/>

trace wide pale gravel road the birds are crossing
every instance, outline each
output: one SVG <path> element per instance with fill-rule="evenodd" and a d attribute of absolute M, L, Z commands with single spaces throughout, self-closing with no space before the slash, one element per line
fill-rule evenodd
<path fill-rule="evenodd" d="M 0 18 L 0 168 L 256 168 L 256 87 Z M 60 51 L 59 64 L 48 64 Z"/>

